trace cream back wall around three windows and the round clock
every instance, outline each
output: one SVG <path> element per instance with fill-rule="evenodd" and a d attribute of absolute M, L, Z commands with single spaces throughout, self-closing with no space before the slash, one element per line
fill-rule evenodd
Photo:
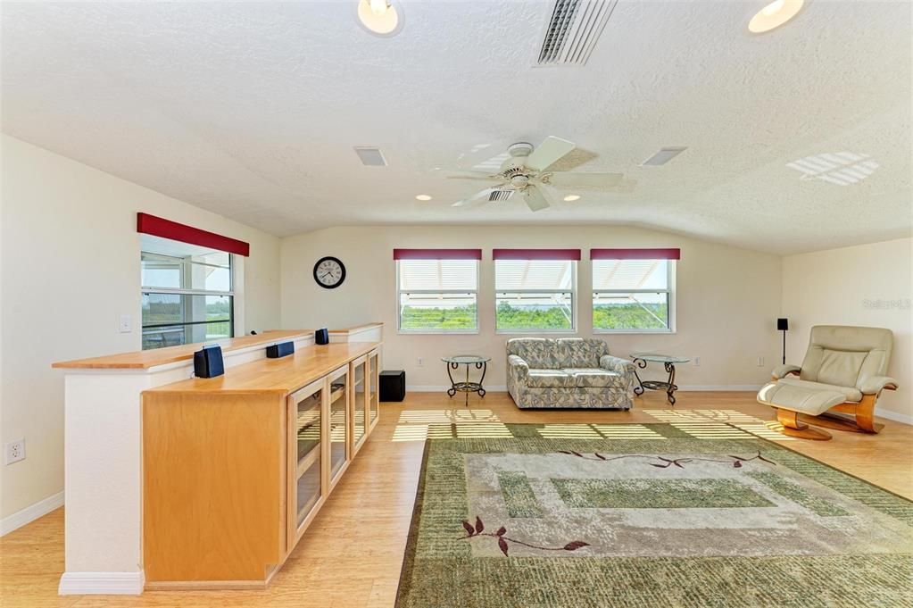
<path fill-rule="evenodd" d="M 590 247 L 680 247 L 677 333 L 603 336 L 610 349 L 699 356 L 700 367 L 679 367 L 683 386 L 760 386 L 779 362 L 781 268 L 778 256 L 631 227 L 606 226 L 373 226 L 338 227 L 282 239 L 282 326 L 346 327 L 382 320 L 384 368 L 404 369 L 410 386 L 447 383 L 440 357 L 459 352 L 492 358 L 486 383 L 503 386 L 504 342 L 494 331 L 493 247 L 580 247 L 578 335 L 592 335 Z M 396 333 L 394 247 L 481 247 L 477 335 Z M 340 288 L 318 287 L 311 270 L 323 256 L 339 257 L 347 277 Z M 422 357 L 424 366 L 416 366 Z M 764 364 L 758 366 L 758 357 Z M 660 368 L 661 370 L 661 368 Z M 647 376 L 663 372 L 648 368 Z"/>

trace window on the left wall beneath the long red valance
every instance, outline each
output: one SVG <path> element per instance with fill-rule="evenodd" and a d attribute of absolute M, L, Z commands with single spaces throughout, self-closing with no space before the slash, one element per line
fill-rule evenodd
<path fill-rule="evenodd" d="M 234 335 L 232 255 L 142 237 L 142 348 Z"/>

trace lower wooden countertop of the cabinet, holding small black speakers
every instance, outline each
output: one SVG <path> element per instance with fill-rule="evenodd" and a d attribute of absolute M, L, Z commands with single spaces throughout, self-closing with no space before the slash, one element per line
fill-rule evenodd
<path fill-rule="evenodd" d="M 281 359 L 260 359 L 230 367 L 217 378 L 190 378 L 143 393 L 293 393 L 380 345 L 381 342 L 336 342 L 306 346 Z"/>

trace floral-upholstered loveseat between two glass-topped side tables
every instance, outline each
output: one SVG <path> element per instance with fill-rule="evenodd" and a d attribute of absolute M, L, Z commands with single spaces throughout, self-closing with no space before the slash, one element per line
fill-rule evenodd
<path fill-rule="evenodd" d="M 508 391 L 521 409 L 631 409 L 634 363 L 602 340 L 513 338 L 507 348 Z"/>

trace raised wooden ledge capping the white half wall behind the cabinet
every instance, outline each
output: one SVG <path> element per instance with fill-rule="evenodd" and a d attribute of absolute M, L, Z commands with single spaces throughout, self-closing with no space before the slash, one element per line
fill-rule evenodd
<path fill-rule="evenodd" d="M 348 334 L 357 330 L 365 330 L 378 326 L 383 326 L 383 323 L 367 323 L 345 330 L 331 330 L 331 333 Z M 267 345 L 278 341 L 294 340 L 302 336 L 312 336 L 313 333 L 314 330 L 268 330 L 257 334 L 256 336 L 240 336 L 219 341 L 169 346 L 167 348 L 152 349 L 150 351 L 121 352 L 119 354 L 105 355 L 103 357 L 57 362 L 52 364 L 51 367 L 57 369 L 143 370 L 155 367 L 156 365 L 165 365 L 166 363 L 189 361 L 194 358 L 194 352 L 199 351 L 204 344 L 218 344 L 222 347 L 223 352 L 236 351 L 238 349 L 259 346 L 261 344 Z"/>

